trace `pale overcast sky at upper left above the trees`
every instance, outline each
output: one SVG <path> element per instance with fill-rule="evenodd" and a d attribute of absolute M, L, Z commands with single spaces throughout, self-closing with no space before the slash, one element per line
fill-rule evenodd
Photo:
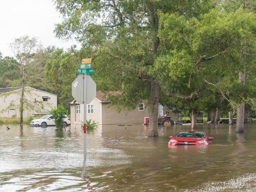
<path fill-rule="evenodd" d="M 37 37 L 44 47 L 55 45 L 66 49 L 78 45 L 76 41 L 55 37 L 54 24 L 61 20 L 52 0 L 0 0 L 0 52 L 3 56 L 13 56 L 9 44 L 23 35 Z"/>

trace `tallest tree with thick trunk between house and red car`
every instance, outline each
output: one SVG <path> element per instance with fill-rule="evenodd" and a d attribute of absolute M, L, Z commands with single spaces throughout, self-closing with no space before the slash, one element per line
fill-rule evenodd
<path fill-rule="evenodd" d="M 122 93 L 113 103 L 128 106 L 135 101 L 132 108 L 141 100 L 149 100 L 148 136 L 158 136 L 160 86 L 152 69 L 160 54 L 159 15 L 176 12 L 186 18 L 198 17 L 215 3 L 210 0 L 56 0 L 56 3 L 64 18 L 56 26 L 56 35 L 75 36 L 84 46 L 98 51 L 97 78 L 106 78 L 110 82 L 108 90 L 115 85 Z M 116 80 L 120 80 L 119 84 Z"/>

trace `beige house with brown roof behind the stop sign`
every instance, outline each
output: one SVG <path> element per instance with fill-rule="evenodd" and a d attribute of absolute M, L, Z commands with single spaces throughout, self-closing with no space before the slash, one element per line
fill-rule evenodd
<path fill-rule="evenodd" d="M 143 124 L 144 117 L 149 116 L 149 111 L 142 103 L 134 110 L 123 110 L 121 113 L 109 108 L 110 102 L 102 92 L 97 92 L 96 97 L 86 106 L 86 119 L 95 120 L 100 125 L 106 124 Z M 164 108 L 160 109 L 163 113 Z M 165 113 L 164 113 L 165 114 Z M 171 118 L 175 115 L 170 112 Z M 70 102 L 71 125 L 84 122 L 84 104 L 79 104 L 76 100 Z"/>

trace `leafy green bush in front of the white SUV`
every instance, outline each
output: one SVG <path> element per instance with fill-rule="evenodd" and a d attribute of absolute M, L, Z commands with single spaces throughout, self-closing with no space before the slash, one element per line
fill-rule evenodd
<path fill-rule="evenodd" d="M 66 113 L 66 109 L 64 108 L 63 104 L 58 104 L 56 109 L 51 110 L 51 114 L 54 118 L 55 127 L 56 130 L 62 130 L 64 121 L 63 121 L 63 115 Z"/>

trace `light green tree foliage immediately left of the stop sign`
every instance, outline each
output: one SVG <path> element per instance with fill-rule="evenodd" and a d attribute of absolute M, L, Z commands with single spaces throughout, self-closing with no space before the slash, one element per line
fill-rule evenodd
<path fill-rule="evenodd" d="M 74 98 L 71 95 L 71 84 L 76 78 L 76 68 L 80 67 L 81 61 L 86 56 L 90 57 L 90 49 L 76 50 L 70 48 L 67 52 L 63 49 L 56 49 L 45 66 L 45 77 L 50 92 L 60 95 L 58 102 L 70 110 L 68 102 Z M 65 75 L 64 75 L 65 74 Z"/>

